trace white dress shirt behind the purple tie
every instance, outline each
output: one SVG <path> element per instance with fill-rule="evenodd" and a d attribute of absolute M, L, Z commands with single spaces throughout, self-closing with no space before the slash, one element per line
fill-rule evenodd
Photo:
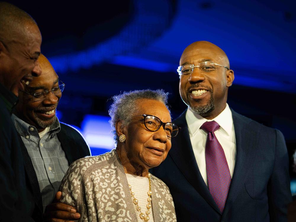
<path fill-rule="evenodd" d="M 220 128 L 214 133 L 224 150 L 230 175 L 232 178 L 236 159 L 236 141 L 232 114 L 228 104 L 226 103 L 225 109 L 214 119 L 205 119 L 199 114 L 195 114 L 190 109 L 190 107 L 188 107 L 187 109 L 186 121 L 188 125 L 191 145 L 198 168 L 200 169 L 202 178 L 204 179 L 207 186 L 207 169 L 205 164 L 205 144 L 207 142 L 207 132 L 200 129 L 200 127 L 205 122 L 213 120 L 215 120 L 220 125 Z"/>

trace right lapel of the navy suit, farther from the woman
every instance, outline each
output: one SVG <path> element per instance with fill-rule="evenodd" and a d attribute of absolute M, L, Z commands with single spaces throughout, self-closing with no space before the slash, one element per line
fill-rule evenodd
<path fill-rule="evenodd" d="M 245 178 L 254 156 L 256 155 L 256 148 L 258 144 L 258 133 L 256 133 L 256 129 L 249 126 L 249 123 L 252 120 L 237 114 L 232 109 L 231 112 L 236 138 L 237 155 L 234 173 L 223 211 L 223 217 L 228 213 L 231 206 L 234 205 L 239 191 L 244 186 Z"/>

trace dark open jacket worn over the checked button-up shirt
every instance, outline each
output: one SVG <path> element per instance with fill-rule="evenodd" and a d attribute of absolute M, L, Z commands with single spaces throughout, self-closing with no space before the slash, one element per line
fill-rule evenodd
<path fill-rule="evenodd" d="M 69 166 L 75 160 L 90 156 L 89 146 L 81 136 L 81 134 L 73 127 L 60 122 L 61 130 L 57 133 L 57 137 L 61 143 L 62 149 L 65 152 Z M 20 138 L 20 141 L 22 139 Z M 38 179 L 33 167 L 32 160 L 28 154 L 27 148 L 24 143 L 22 145 L 22 155 L 25 162 L 25 171 L 27 187 L 31 190 L 34 195 L 35 207 L 32 218 L 35 221 L 42 221 L 42 198 Z"/>

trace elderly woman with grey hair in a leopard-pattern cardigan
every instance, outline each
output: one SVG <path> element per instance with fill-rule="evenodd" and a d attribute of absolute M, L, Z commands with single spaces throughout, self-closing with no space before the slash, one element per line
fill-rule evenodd
<path fill-rule="evenodd" d="M 148 173 L 165 160 L 179 130 L 171 122 L 167 93 L 139 90 L 113 100 L 116 149 L 71 164 L 61 202 L 76 207 L 80 221 L 176 221 L 168 187 Z"/>

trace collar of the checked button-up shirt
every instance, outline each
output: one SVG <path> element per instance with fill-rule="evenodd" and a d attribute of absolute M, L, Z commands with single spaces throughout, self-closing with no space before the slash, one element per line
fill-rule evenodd
<path fill-rule="evenodd" d="M 11 119 L 12 119 L 12 122 L 14 123 L 14 125 L 15 125 L 15 128 L 17 129 L 17 132 L 21 136 L 30 135 L 32 132 L 37 132 L 36 127 L 26 123 L 22 119 L 18 118 L 15 114 L 12 114 Z M 34 130 L 31 131 L 30 128 L 34 128 Z M 50 129 L 49 129 L 48 133 L 50 133 L 50 134 L 54 133 L 55 134 L 55 133 L 58 133 L 60 130 L 61 130 L 61 125 L 59 123 L 59 119 L 57 118 L 57 121 L 54 122 L 54 124 L 52 124 L 50 126 Z"/>

